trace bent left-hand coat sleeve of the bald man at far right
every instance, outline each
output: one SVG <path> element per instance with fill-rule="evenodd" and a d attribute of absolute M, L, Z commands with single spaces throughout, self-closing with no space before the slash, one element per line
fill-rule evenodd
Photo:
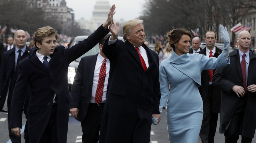
<path fill-rule="evenodd" d="M 217 69 L 214 72 L 214 75 L 212 77 L 212 84 L 221 88 L 223 91 L 227 93 L 231 93 L 232 87 L 235 86 L 235 84 L 229 80 L 224 79 L 224 71 L 225 71 L 225 68 L 222 68 L 222 69 Z"/>

